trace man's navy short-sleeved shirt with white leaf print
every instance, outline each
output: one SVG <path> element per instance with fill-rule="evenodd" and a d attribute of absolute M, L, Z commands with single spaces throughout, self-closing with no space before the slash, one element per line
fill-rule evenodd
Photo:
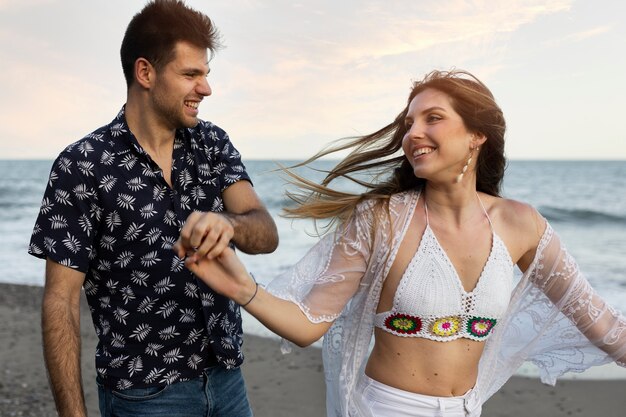
<path fill-rule="evenodd" d="M 172 251 L 192 211 L 224 211 L 222 192 L 250 181 L 219 127 L 176 131 L 172 187 L 126 124 L 68 146 L 52 167 L 29 253 L 84 272 L 96 370 L 116 389 L 195 378 L 243 362 L 239 306 L 214 293 Z"/>

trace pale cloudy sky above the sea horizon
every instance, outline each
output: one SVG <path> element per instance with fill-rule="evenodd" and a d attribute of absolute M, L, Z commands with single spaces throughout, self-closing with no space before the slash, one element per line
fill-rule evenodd
<path fill-rule="evenodd" d="M 145 4 L 0 0 L 0 159 L 53 159 L 124 104 L 119 47 Z M 619 0 L 188 0 L 219 28 L 200 117 L 244 159 L 303 159 L 465 69 L 494 93 L 510 159 L 626 160 Z"/>

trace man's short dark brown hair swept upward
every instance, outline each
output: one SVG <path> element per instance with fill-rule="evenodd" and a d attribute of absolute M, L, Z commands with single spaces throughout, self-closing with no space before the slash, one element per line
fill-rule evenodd
<path fill-rule="evenodd" d="M 189 42 L 214 53 L 220 47 L 217 28 L 208 16 L 181 0 L 152 0 L 137 13 L 126 28 L 120 57 L 126 85 L 134 82 L 138 58 L 147 59 L 157 71 L 174 57 L 178 42 Z"/>

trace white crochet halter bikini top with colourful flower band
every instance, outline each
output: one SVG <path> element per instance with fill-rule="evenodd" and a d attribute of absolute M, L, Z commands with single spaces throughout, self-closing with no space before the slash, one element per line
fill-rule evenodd
<path fill-rule="evenodd" d="M 428 222 L 415 256 L 396 289 L 391 311 L 376 314 L 375 325 L 403 337 L 447 342 L 461 337 L 486 340 L 506 312 L 513 287 L 513 262 L 489 221 L 491 252 L 476 287 L 466 292 Z"/>

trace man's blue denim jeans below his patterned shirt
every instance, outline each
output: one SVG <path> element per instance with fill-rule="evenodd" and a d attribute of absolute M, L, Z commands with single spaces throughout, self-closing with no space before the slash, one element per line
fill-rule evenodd
<path fill-rule="evenodd" d="M 163 387 L 118 391 L 97 382 L 102 417 L 252 417 L 240 369 L 212 366 Z"/>

